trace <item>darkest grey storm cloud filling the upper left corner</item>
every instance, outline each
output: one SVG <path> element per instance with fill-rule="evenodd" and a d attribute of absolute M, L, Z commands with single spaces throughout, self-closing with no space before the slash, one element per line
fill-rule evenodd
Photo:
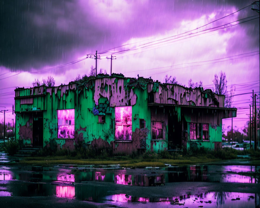
<path fill-rule="evenodd" d="M 74 1 L 1 1 L 0 65 L 29 70 L 69 60 L 106 31 L 77 15 Z"/>

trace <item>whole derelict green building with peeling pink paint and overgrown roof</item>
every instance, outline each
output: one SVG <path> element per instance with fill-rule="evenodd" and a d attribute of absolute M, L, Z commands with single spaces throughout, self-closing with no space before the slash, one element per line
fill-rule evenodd
<path fill-rule="evenodd" d="M 16 139 L 33 147 L 56 140 L 132 154 L 221 148 L 224 95 L 139 77 L 98 75 L 84 83 L 15 89 Z"/>

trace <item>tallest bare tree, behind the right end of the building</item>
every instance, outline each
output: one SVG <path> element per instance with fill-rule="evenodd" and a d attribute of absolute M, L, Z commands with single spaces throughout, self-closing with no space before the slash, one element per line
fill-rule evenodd
<path fill-rule="evenodd" d="M 226 80 L 226 73 L 220 72 L 219 76 L 215 74 L 214 80 L 213 80 L 213 92 L 217 93 L 219 95 L 225 95 L 225 101 L 224 106 L 226 108 L 230 108 L 231 104 L 233 102 L 233 97 L 235 93 L 235 86 L 231 85 L 230 91 L 228 91 L 227 86 L 228 81 Z"/>

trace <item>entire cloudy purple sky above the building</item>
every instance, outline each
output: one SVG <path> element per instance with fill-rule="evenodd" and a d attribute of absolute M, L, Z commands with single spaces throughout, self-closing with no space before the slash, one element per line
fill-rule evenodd
<path fill-rule="evenodd" d="M 235 94 L 252 89 L 259 92 L 259 16 L 248 6 L 253 1 L 14 2 L 0 2 L 0 110 L 12 109 L 16 86 L 31 87 L 35 78 L 42 80 L 49 75 L 54 77 L 56 86 L 68 84 L 78 74 L 88 74 L 91 65 L 95 67 L 95 60 L 42 70 L 111 48 L 97 61 L 97 68 L 108 73 L 110 60 L 106 56 L 114 53 L 112 70 L 125 76 L 139 74 L 163 81 L 167 74 L 176 76 L 178 83 L 186 86 L 189 79 L 201 80 L 204 89 L 212 89 L 214 74 L 223 70 L 228 85 L 237 84 Z M 245 6 L 248 7 L 215 21 Z M 246 17 L 251 18 L 243 19 Z M 257 19 L 250 20 L 253 18 Z M 234 22 L 240 19 L 243 20 Z M 212 21 L 215 22 L 199 28 Z M 243 21 L 247 22 L 237 24 Z M 208 30 L 224 24 L 224 29 Z M 190 30 L 193 31 L 185 33 Z M 115 48 L 118 46 L 122 47 Z M 122 50 L 129 51 L 117 53 Z M 249 108 L 250 96 L 235 96 L 232 106 Z M 246 114 L 249 109 L 238 109 L 237 118 L 233 119 L 235 129 L 249 120 Z M 12 118 L 7 113 L 6 120 Z M 227 128 L 231 119 L 223 123 Z"/>

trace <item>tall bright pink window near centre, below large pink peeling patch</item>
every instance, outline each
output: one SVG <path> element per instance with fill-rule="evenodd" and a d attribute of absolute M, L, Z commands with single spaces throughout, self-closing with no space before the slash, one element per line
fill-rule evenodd
<path fill-rule="evenodd" d="M 115 107 L 115 140 L 132 141 L 132 106 Z"/>

